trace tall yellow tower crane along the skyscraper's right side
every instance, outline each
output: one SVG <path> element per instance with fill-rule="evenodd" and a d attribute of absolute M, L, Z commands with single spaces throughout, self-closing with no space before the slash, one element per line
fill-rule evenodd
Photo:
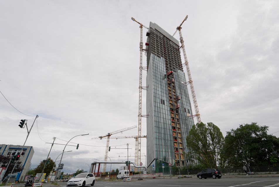
<path fill-rule="evenodd" d="M 186 21 L 187 18 L 188 18 L 188 15 L 185 17 L 185 19 L 182 21 L 182 23 L 176 28 L 175 33 L 177 31 L 179 32 L 179 37 L 180 37 L 179 39 L 180 39 L 180 43 L 181 43 L 181 46 L 179 48 L 182 48 L 183 55 L 184 55 L 184 60 L 185 60 L 184 64 L 186 66 L 187 74 L 188 74 L 188 79 L 189 79 L 188 83 L 190 84 L 191 93 L 192 93 L 192 97 L 193 97 L 193 103 L 194 103 L 195 112 L 196 112 L 196 114 L 194 116 L 197 117 L 197 121 L 198 121 L 198 123 L 200 123 L 201 122 L 201 120 L 200 120 L 200 112 L 199 112 L 198 103 L 197 103 L 197 99 L 196 99 L 196 95 L 195 95 L 195 90 L 194 90 L 194 85 L 193 85 L 193 81 L 192 81 L 192 77 L 191 77 L 191 73 L 190 73 L 188 59 L 187 59 L 186 52 L 185 52 L 184 40 L 183 40 L 182 33 L 181 33 L 181 29 L 182 29 L 181 26 L 184 23 L 184 21 Z M 172 36 L 174 36 L 175 33 Z"/>

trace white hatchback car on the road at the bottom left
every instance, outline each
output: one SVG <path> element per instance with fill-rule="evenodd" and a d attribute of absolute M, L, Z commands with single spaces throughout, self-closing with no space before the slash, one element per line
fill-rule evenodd
<path fill-rule="evenodd" d="M 92 173 L 80 173 L 76 175 L 74 178 L 71 178 L 66 186 L 86 186 L 95 184 L 95 176 Z"/>

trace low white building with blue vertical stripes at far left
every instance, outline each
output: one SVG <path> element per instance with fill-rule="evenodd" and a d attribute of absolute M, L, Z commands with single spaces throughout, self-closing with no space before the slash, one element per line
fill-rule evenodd
<path fill-rule="evenodd" d="M 21 152 L 22 149 L 22 152 Z M 6 145 L 6 144 L 0 144 L 0 155 L 4 156 L 11 156 L 11 155 L 17 155 L 20 154 L 20 161 L 23 165 L 23 170 L 18 173 L 11 174 L 10 181 L 23 181 L 24 176 L 29 170 L 31 159 L 34 154 L 34 149 L 32 146 L 22 146 L 22 145 Z M 8 164 L 8 163 L 7 163 Z M 11 166 L 9 166 L 11 167 Z"/>

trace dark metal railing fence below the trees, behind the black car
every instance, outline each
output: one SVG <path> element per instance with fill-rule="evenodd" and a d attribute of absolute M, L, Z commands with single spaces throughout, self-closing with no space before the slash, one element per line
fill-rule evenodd
<path fill-rule="evenodd" d="M 254 173 L 264 173 L 264 172 L 279 172 L 279 165 L 271 166 L 250 166 L 250 171 Z M 233 174 L 233 173 L 244 173 L 243 167 L 237 168 L 218 168 L 222 174 Z M 247 168 L 248 172 L 249 169 Z M 198 170 L 189 170 L 189 175 L 196 175 L 199 172 L 203 171 L 202 169 Z M 179 171 L 173 172 L 174 175 L 179 175 Z M 188 175 L 188 171 L 180 171 L 181 175 Z"/>

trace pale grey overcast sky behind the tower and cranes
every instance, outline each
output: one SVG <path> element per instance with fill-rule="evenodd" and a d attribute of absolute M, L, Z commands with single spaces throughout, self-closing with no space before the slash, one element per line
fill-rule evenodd
<path fill-rule="evenodd" d="M 89 171 L 86 164 L 104 160 L 106 146 L 91 138 L 138 124 L 140 25 L 131 17 L 173 35 L 186 15 L 182 35 L 202 122 L 217 125 L 224 137 L 258 122 L 279 137 L 278 9 L 279 1 L 254 0 L 0 1 L 0 91 L 21 112 L 0 95 L 0 143 L 23 145 L 20 120 L 30 129 L 39 115 L 25 144 L 35 151 L 31 168 L 46 159 L 53 137 L 65 144 L 89 133 L 75 137 L 70 144 L 79 149 L 67 146 L 72 152 L 62 159 L 66 173 Z M 144 71 L 143 86 L 145 78 Z M 137 128 L 115 134 L 132 135 Z M 134 161 L 134 139 L 111 139 L 111 148 L 123 148 L 109 152 L 112 161 L 127 160 L 127 143 Z M 54 145 L 50 157 L 63 148 Z M 141 150 L 145 165 L 144 139 Z"/>

